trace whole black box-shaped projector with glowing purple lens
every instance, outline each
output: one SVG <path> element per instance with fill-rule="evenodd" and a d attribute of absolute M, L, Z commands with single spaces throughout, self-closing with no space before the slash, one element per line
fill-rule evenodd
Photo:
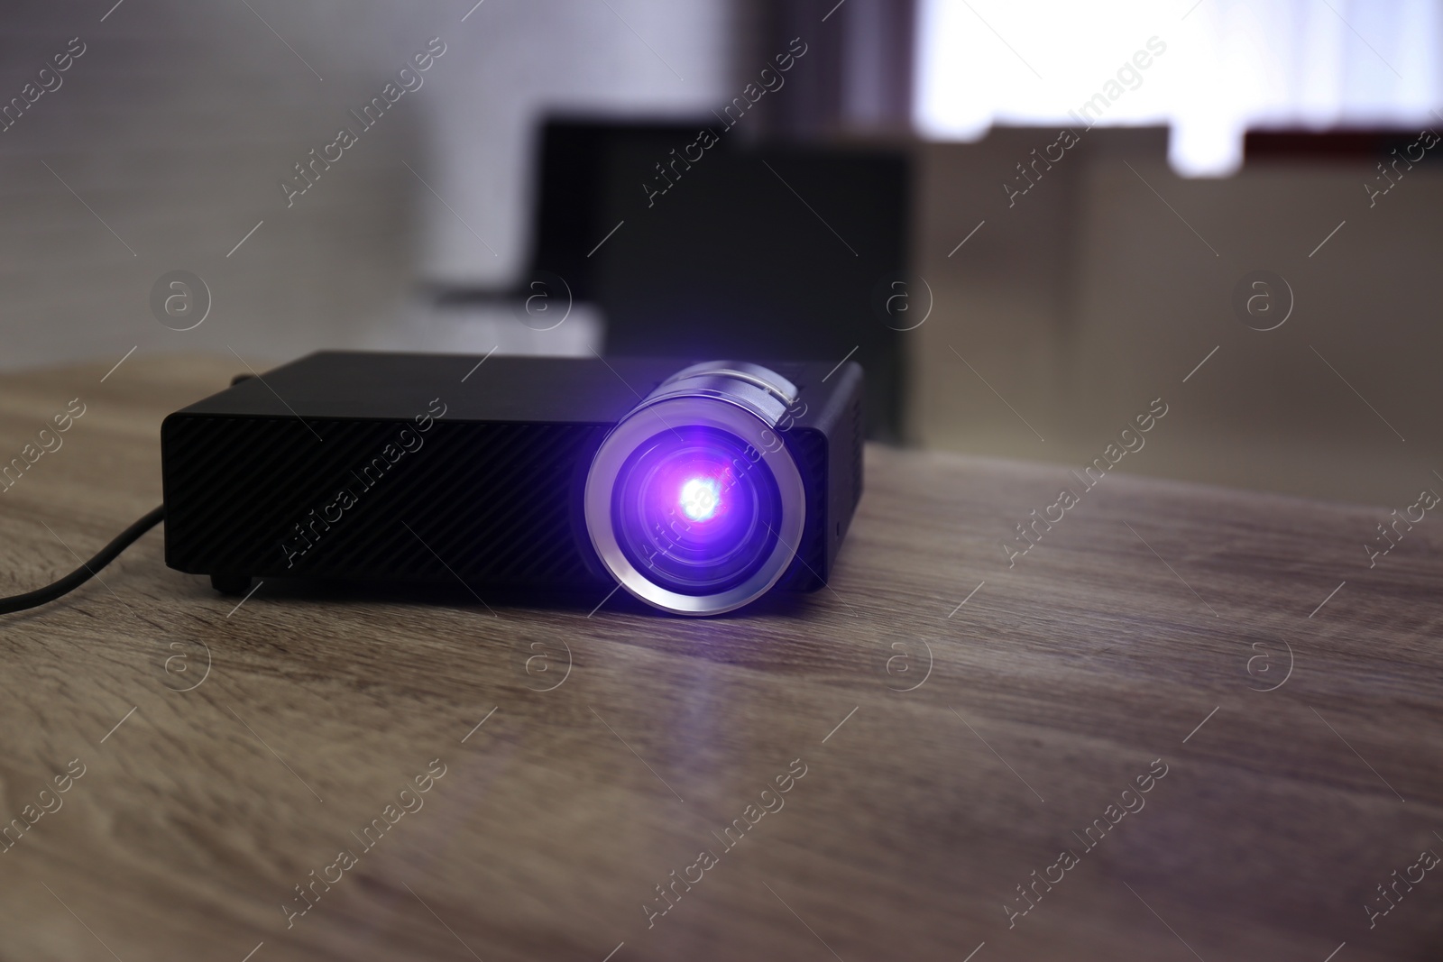
<path fill-rule="evenodd" d="M 768 551 L 768 531 L 778 538 L 786 531 L 797 535 L 795 542 L 786 539 L 785 551 L 776 547 L 768 555 L 778 567 L 762 591 L 821 587 L 861 495 L 861 369 L 856 363 L 830 371 L 827 363 L 810 362 L 771 369 L 713 362 L 711 368 L 698 365 L 706 371 L 678 388 L 668 378 L 685 366 L 665 359 L 322 352 L 238 379 L 162 425 L 166 564 L 208 574 L 216 588 L 231 593 L 245 590 L 255 577 L 304 577 L 452 586 L 459 580 L 473 590 L 498 586 L 586 596 L 605 594 L 620 581 L 642 596 L 636 587 L 646 588 L 648 571 L 655 568 L 658 578 L 674 575 L 665 581 L 671 594 L 664 594 L 681 601 L 644 600 L 707 614 L 737 607 L 742 583 L 753 591 L 760 583 L 746 567 L 756 562 L 736 551 L 724 570 L 713 570 L 716 558 L 701 557 L 713 565 L 704 574 L 716 578 L 687 580 L 694 575 L 687 565 L 700 557 L 693 544 L 703 537 L 697 532 L 724 521 L 742 534 L 727 535 L 722 548 L 745 535 L 752 538 L 746 544 L 760 545 L 756 557 Z M 742 407 L 723 397 L 733 388 L 756 394 L 755 410 L 772 402 L 773 414 L 778 398 L 788 400 L 775 423 L 766 424 L 771 417 L 758 421 L 762 427 L 755 437 L 763 440 L 755 447 L 749 444 L 755 437 L 747 436 L 752 415 L 737 415 Z M 786 388 L 791 395 L 784 394 Z M 697 444 L 711 443 L 713 436 L 726 438 L 716 428 L 687 427 L 690 420 L 674 407 L 681 404 L 672 397 L 678 391 L 688 402 L 693 394 L 703 398 L 707 411 L 726 408 L 726 417 L 743 418 L 742 446 L 726 450 L 749 454 L 697 475 L 700 487 L 688 480 L 688 499 L 681 502 L 685 513 L 672 506 L 664 524 L 639 518 L 632 541 L 642 547 L 628 547 L 622 532 L 620 554 L 603 548 L 608 558 L 622 558 L 628 573 L 635 574 L 632 567 L 642 571 L 633 584 L 616 564 L 603 561 L 596 532 L 609 524 L 608 511 L 625 526 L 632 502 L 618 495 L 615 503 L 606 502 L 612 503 L 608 509 L 603 500 L 610 495 L 597 490 L 602 508 L 589 521 L 583 503 L 589 475 L 595 475 L 603 441 L 628 418 L 638 437 L 685 444 L 659 475 L 645 475 L 642 482 L 662 479 L 655 487 L 681 477 L 672 470 L 677 464 L 677 470 L 700 470 L 697 457 L 710 453 L 697 454 Z M 641 400 L 652 397 L 664 398 L 661 407 L 642 411 Z M 775 447 L 765 460 L 758 450 L 763 446 Z M 719 457 L 711 460 L 722 464 Z M 763 464 L 772 467 L 758 467 Z M 797 467 L 801 502 L 786 500 L 786 464 Z M 629 477 L 629 469 L 622 470 L 618 490 Z M 778 485 L 781 500 L 773 496 Z M 733 508 L 729 499 L 737 506 L 723 518 Z M 636 503 L 645 513 L 649 502 Z M 769 515 L 772 503 L 779 509 Z M 791 521 L 788 511 L 797 515 Z M 784 521 L 795 524 L 786 528 Z M 742 531 L 743 524 L 752 534 Z M 652 544 L 658 538 L 659 550 Z M 706 542 L 701 548 L 703 554 L 709 550 Z M 724 554 L 722 548 L 716 551 Z M 687 600 L 688 594 L 726 591 L 732 591 L 726 606 Z"/>

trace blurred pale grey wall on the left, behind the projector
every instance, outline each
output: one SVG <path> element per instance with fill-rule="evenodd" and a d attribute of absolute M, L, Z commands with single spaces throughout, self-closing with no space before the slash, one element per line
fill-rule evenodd
<path fill-rule="evenodd" d="M 22 97 L 72 37 L 84 53 L 0 133 L 0 366 L 133 346 L 257 359 L 417 346 L 416 278 L 519 265 L 535 114 L 716 102 L 737 59 L 736 6 L 7 3 L 0 98 Z M 420 87 L 364 128 L 348 111 L 431 37 L 444 53 Z M 342 125 L 356 143 L 287 199 L 281 179 Z M 150 306 L 177 268 L 212 299 L 188 332 Z"/>

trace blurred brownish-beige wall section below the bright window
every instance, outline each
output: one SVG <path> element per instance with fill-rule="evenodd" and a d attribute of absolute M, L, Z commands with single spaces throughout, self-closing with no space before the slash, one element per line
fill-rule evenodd
<path fill-rule="evenodd" d="M 1026 186 L 1016 164 L 1056 130 L 919 149 L 915 262 L 935 306 L 911 345 L 915 440 L 1081 470 L 1163 398 L 1118 470 L 1416 500 L 1443 472 L 1443 170 L 1420 164 L 1369 206 L 1371 162 L 1185 180 L 1166 137 L 1089 131 L 1012 198 L 1003 183 Z M 1276 330 L 1231 304 L 1258 268 L 1294 296 Z"/>

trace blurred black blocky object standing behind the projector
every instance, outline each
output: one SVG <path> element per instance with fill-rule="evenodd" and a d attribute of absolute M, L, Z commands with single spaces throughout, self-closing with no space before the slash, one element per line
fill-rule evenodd
<path fill-rule="evenodd" d="M 670 162 L 704 125 L 547 124 L 532 267 L 602 307 L 606 353 L 840 362 L 856 349 L 867 436 L 900 440 L 902 335 L 879 303 L 906 264 L 905 159 L 745 147 L 713 120 L 717 146 L 677 176 Z M 664 162 L 672 185 L 648 198 Z"/>

